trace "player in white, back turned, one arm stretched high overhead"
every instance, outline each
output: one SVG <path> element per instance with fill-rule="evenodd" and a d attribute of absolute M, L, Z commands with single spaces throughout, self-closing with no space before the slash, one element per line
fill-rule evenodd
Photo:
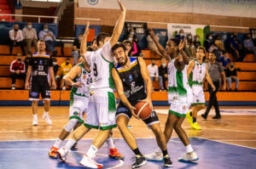
<path fill-rule="evenodd" d="M 98 149 L 102 147 L 102 144 L 108 138 L 109 132 L 113 127 L 116 127 L 115 123 L 115 98 L 113 94 L 113 78 L 111 76 L 111 70 L 113 69 L 113 56 L 111 54 L 111 48 L 118 42 L 119 36 L 124 27 L 126 9 L 122 3 L 118 0 L 121 14 L 117 25 L 113 29 L 113 35 L 110 37 L 107 33 L 100 33 L 96 37 L 98 50 L 95 52 L 86 51 L 87 35 L 81 43 L 84 48 L 82 57 L 90 63 L 90 70 L 92 71 L 94 81 L 90 86 L 90 98 L 88 105 L 88 112 L 86 114 L 86 120 L 84 125 L 80 126 L 73 133 L 73 137 L 68 140 L 67 144 L 57 151 L 62 161 L 67 158 L 68 149 L 75 144 L 80 138 L 84 136 L 91 128 L 100 129 L 96 138 L 94 138 L 90 149 L 83 155 L 80 164 L 90 168 L 102 168 L 102 164 L 96 163 L 94 158 Z"/>

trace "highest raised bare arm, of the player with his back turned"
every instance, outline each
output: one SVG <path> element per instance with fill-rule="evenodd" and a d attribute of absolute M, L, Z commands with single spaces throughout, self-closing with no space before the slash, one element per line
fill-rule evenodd
<path fill-rule="evenodd" d="M 109 40 L 110 45 L 112 47 L 113 47 L 113 45 L 115 45 L 115 43 L 117 43 L 119 41 L 119 37 L 123 31 L 124 24 L 125 24 L 125 14 L 126 14 L 125 6 L 119 0 L 117 2 L 119 3 L 119 7 L 121 9 L 121 14 L 119 16 L 119 20 L 118 20 L 117 24 L 115 25 L 115 27 L 113 29 L 113 35 Z"/>

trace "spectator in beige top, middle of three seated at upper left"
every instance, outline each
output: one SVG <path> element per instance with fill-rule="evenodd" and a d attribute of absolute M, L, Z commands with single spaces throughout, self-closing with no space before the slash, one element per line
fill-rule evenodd
<path fill-rule="evenodd" d="M 28 22 L 27 26 L 23 28 L 23 37 L 24 37 L 24 42 L 26 44 L 26 54 L 32 54 L 31 53 L 31 47 L 32 45 L 38 51 L 37 47 L 37 41 L 38 41 L 38 35 L 37 31 L 32 28 L 32 22 Z"/>

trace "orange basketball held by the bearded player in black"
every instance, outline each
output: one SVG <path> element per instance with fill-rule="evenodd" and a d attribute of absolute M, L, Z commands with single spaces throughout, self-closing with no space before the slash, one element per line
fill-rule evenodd
<path fill-rule="evenodd" d="M 144 101 L 137 103 L 135 105 L 135 108 L 135 114 L 142 120 L 147 119 L 152 113 L 152 110 L 149 108 L 149 104 Z"/>

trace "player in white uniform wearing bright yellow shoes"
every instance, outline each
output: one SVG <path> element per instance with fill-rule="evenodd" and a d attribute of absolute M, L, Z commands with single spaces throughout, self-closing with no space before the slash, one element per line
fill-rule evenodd
<path fill-rule="evenodd" d="M 193 105 L 192 112 L 187 113 L 189 124 L 196 130 L 201 130 L 201 127 L 196 122 L 197 112 L 205 107 L 205 93 L 202 87 L 202 82 L 206 77 L 207 82 L 211 85 L 213 91 L 216 89 L 212 83 L 212 78 L 208 73 L 208 66 L 203 62 L 203 58 L 206 56 L 206 49 L 198 47 L 196 49 L 196 59 L 191 61 L 188 66 L 188 78 L 189 85 L 192 88 L 193 93 Z"/>

